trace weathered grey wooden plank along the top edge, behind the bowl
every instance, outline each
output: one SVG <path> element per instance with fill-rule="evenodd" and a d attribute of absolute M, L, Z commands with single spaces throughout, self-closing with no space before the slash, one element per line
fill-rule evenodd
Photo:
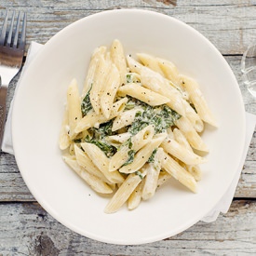
<path fill-rule="evenodd" d="M 23 0 L 0 1 L 0 7 L 16 8 L 28 12 L 28 42 L 33 40 L 46 43 L 62 28 L 88 15 L 112 7 L 137 7 L 155 10 L 182 20 L 220 49 L 222 54 L 241 54 L 252 43 L 256 34 L 254 1 L 197 0 L 193 2 L 177 1 L 177 5 L 168 5 L 168 1 L 31 1 L 24 5 Z M 3 11 L 2 11 L 3 13 Z M 3 15 L 1 15 L 3 16 Z"/>

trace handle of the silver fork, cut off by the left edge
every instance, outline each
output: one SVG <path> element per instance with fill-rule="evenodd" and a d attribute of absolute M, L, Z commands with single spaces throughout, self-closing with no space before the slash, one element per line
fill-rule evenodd
<path fill-rule="evenodd" d="M 0 87 L 0 151 L 4 137 L 4 130 L 6 125 L 7 113 L 7 87 L 2 85 Z"/>

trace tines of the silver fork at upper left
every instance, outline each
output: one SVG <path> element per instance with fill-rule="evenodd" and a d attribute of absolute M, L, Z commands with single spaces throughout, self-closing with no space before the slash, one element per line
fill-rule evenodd
<path fill-rule="evenodd" d="M 26 38 L 26 22 L 27 15 L 23 14 L 22 27 L 20 29 L 20 12 L 17 17 L 16 26 L 14 30 L 14 20 L 15 20 L 15 11 L 12 13 L 10 18 L 10 23 L 8 26 L 9 10 L 6 13 L 6 19 L 4 21 L 2 32 L 0 35 L 0 46 L 4 47 L 13 47 L 13 48 L 24 48 L 25 47 L 25 38 Z"/>

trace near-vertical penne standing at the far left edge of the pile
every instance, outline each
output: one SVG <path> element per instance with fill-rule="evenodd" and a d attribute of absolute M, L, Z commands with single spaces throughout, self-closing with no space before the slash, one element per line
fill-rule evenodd
<path fill-rule="evenodd" d="M 69 124 L 69 136 L 73 140 L 76 136 L 74 131 L 77 123 L 82 118 L 81 113 L 81 100 L 79 96 L 77 81 L 73 79 L 67 90 L 67 111 L 68 111 L 68 124 Z"/>

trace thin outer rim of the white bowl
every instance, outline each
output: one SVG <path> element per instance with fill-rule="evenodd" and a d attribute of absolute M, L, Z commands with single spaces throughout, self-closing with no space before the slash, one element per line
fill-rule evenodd
<path fill-rule="evenodd" d="M 85 22 L 85 20 L 91 20 L 91 19 L 98 19 L 100 18 L 101 16 L 105 16 L 105 15 L 110 15 L 112 13 L 116 13 L 116 12 L 123 12 L 123 13 L 133 13 L 133 12 L 138 12 L 138 13 L 143 13 L 143 14 L 150 14 L 150 15 L 155 15 L 155 16 L 159 16 L 159 17 L 164 17 L 165 19 L 168 19 L 168 20 L 172 20 L 172 21 L 175 21 L 175 22 L 179 22 L 181 23 L 182 25 L 185 25 L 187 29 L 190 29 L 190 30 L 193 30 L 193 32 L 197 35 L 199 35 L 203 40 L 207 40 L 208 44 L 211 46 L 211 48 L 215 51 L 216 54 L 218 54 L 219 56 L 222 57 L 222 54 L 220 53 L 220 51 L 209 41 L 209 39 L 207 37 L 205 37 L 203 34 L 200 34 L 198 31 L 196 31 L 193 27 L 191 27 L 190 25 L 188 25 L 187 23 L 183 22 L 182 20 L 178 20 L 177 18 L 173 18 L 173 17 L 170 17 L 166 14 L 163 14 L 163 13 L 158 13 L 158 12 L 155 12 L 155 11 L 152 11 L 152 10 L 146 10 L 146 9 L 138 9 L 138 8 L 121 8 L 121 9 L 112 9 L 112 10 L 103 10 L 101 12 L 98 12 L 98 13 L 95 13 L 95 14 L 91 14 L 91 15 L 88 15 L 87 17 L 84 17 L 80 20 L 76 20 L 74 21 L 73 23 L 67 25 L 66 27 L 64 27 L 63 29 L 61 29 L 60 32 L 58 32 L 57 34 L 54 34 L 48 41 L 47 43 L 45 44 L 44 47 L 42 47 L 42 49 L 39 50 L 38 54 L 35 56 L 34 60 L 32 60 L 30 63 L 29 63 L 29 66 L 33 65 L 34 61 L 36 59 L 39 59 L 40 56 L 44 55 L 44 49 L 51 44 L 51 42 L 54 42 L 55 40 L 59 40 L 59 38 L 61 37 L 62 34 L 65 34 L 65 33 L 68 33 L 74 26 L 76 26 L 78 23 L 80 22 Z M 235 74 L 233 73 L 233 71 L 231 70 L 231 67 L 229 66 L 229 64 L 227 63 L 227 61 L 225 61 L 225 59 L 222 57 L 222 60 L 225 62 L 225 64 L 228 66 L 229 70 L 231 71 L 231 75 L 233 75 L 233 79 L 235 79 L 236 81 L 236 76 Z M 26 74 L 28 74 L 26 72 Z M 22 81 L 24 81 L 26 79 L 26 74 L 24 75 L 21 75 L 20 77 L 20 83 Z M 237 102 L 237 104 L 240 104 L 240 108 L 242 111 L 242 124 L 241 124 L 241 127 L 242 127 L 242 130 L 241 130 L 241 141 L 245 141 L 245 130 L 246 130 L 246 122 L 245 122 L 245 107 L 244 107 L 244 103 L 243 103 L 243 99 L 242 99 L 242 95 L 241 95 L 241 92 L 239 90 L 239 86 L 238 86 L 238 83 L 236 81 L 236 92 L 237 94 L 239 95 L 239 102 Z M 20 91 L 20 87 L 17 88 L 17 92 L 16 94 L 19 94 L 19 91 Z M 17 101 L 14 101 L 14 105 L 13 105 L 13 110 L 14 110 L 14 115 L 12 115 L 12 118 L 15 119 L 15 113 L 16 113 L 16 109 L 18 108 L 17 104 L 16 104 Z M 15 121 L 12 122 L 12 134 L 14 134 L 14 140 L 13 140 L 13 146 L 14 146 L 14 153 L 15 153 L 15 149 L 18 148 L 18 145 L 17 145 L 17 141 L 16 141 L 16 138 L 15 138 Z M 243 152 L 243 148 L 240 149 L 240 158 L 242 157 L 242 152 Z M 145 243 L 150 243 L 150 242 L 154 242 L 154 241 L 158 241 L 160 239 L 164 239 L 164 238 L 167 238 L 168 236 L 174 236 L 174 235 L 177 235 L 179 233 L 181 233 L 182 231 L 186 230 L 187 228 L 191 227 L 192 225 L 194 225 L 196 222 L 198 222 L 201 218 L 204 217 L 205 215 L 205 212 L 201 214 L 201 216 L 197 216 L 196 220 L 194 219 L 193 221 L 191 220 L 191 222 L 186 222 L 186 224 L 184 226 L 182 226 L 178 232 L 176 232 L 175 234 L 173 235 L 170 235 L 171 232 L 168 232 L 168 234 L 161 234 L 161 235 L 157 235 L 157 236 L 154 236 L 154 237 L 151 237 L 151 238 L 147 238 L 146 240 L 144 239 L 141 239 L 141 241 L 128 241 L 127 243 L 125 241 L 113 241 L 111 239 L 109 239 L 108 237 L 102 237 L 102 236 L 95 236 L 95 234 L 88 234 L 87 231 L 84 232 L 84 233 L 81 233 L 81 231 L 77 228 L 74 227 L 73 224 L 69 223 L 69 222 L 65 222 L 65 220 L 60 220 L 59 216 L 58 216 L 58 213 L 54 212 L 52 209 L 48 209 L 47 207 L 47 202 L 45 202 L 45 200 L 43 198 L 40 198 L 40 196 L 37 195 L 37 191 L 34 190 L 34 187 L 32 187 L 30 185 L 30 183 L 28 182 L 28 179 L 27 179 L 27 176 L 22 172 L 22 168 L 21 168 L 21 159 L 19 157 L 19 155 L 16 155 L 16 161 L 17 161 L 17 165 L 20 169 L 20 174 L 24 180 L 24 182 L 26 183 L 27 187 L 29 188 L 29 190 L 31 191 L 32 195 L 34 195 L 34 198 L 38 201 L 38 203 L 44 208 L 47 210 L 47 212 L 56 220 L 58 220 L 58 222 L 61 222 L 63 225 L 67 226 L 68 228 L 70 228 L 71 230 L 74 230 L 76 233 L 82 235 L 82 236 L 88 236 L 89 238 L 92 238 L 92 239 L 95 239 L 95 240 L 98 240 L 98 241 L 101 241 L 101 242 L 106 242 L 106 243 L 110 243 L 110 244 L 119 244 L 119 245 L 138 245 L 138 244 L 145 244 Z M 228 187 L 231 185 L 231 183 L 233 182 L 234 180 L 234 177 L 235 177 L 235 174 L 236 172 L 234 171 L 234 175 L 232 177 L 232 179 L 230 179 L 230 182 L 229 182 L 229 185 L 227 186 L 227 189 Z M 219 198 L 216 198 L 215 200 L 215 203 L 217 204 L 220 200 L 221 200 L 222 196 L 219 196 Z M 177 230 L 176 230 L 177 231 Z"/>

